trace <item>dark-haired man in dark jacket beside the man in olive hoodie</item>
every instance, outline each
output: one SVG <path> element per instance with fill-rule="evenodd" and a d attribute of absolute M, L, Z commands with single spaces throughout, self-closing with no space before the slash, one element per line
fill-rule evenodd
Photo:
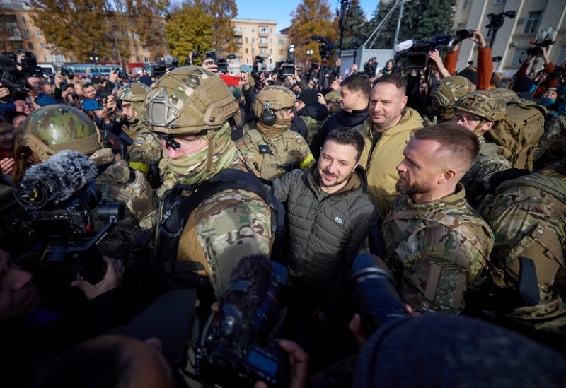
<path fill-rule="evenodd" d="M 367 105 L 371 93 L 371 83 L 364 73 L 354 73 L 340 83 L 340 107 L 342 110 L 330 117 L 311 143 L 311 152 L 318 160 L 320 148 L 330 131 L 337 127 L 356 127 L 368 117 Z"/>

